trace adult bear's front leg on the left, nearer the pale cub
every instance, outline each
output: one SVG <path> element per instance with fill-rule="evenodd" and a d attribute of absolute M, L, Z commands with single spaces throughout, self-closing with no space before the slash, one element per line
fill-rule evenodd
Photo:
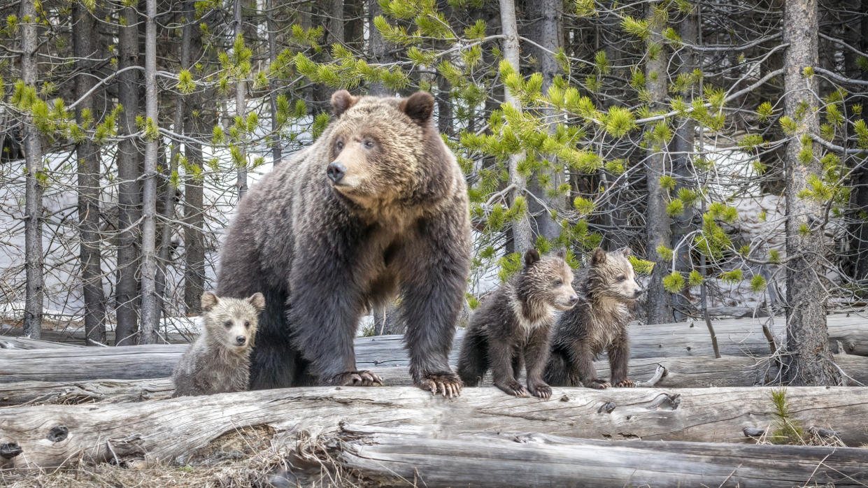
<path fill-rule="evenodd" d="M 287 319 L 294 342 L 320 385 L 382 385 L 378 374 L 356 368 L 360 293 L 348 271 L 334 262 L 339 261 L 307 261 L 293 269 Z"/>

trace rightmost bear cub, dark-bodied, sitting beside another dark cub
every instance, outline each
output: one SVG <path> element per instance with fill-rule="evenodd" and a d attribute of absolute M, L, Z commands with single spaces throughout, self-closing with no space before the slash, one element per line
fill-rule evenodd
<path fill-rule="evenodd" d="M 635 386 L 627 379 L 630 345 L 627 325 L 628 306 L 642 290 L 636 283 L 633 266 L 623 247 L 606 253 L 597 247 L 590 266 L 576 274 L 573 286 L 579 303 L 563 313 L 555 329 L 545 380 L 554 386 L 589 386 L 602 389 L 610 385 Z M 612 377 L 598 379 L 594 358 L 608 351 Z"/>

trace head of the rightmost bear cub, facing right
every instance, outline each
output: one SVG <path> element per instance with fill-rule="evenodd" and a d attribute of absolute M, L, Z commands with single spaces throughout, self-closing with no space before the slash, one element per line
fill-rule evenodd
<path fill-rule="evenodd" d="M 591 254 L 588 270 L 588 292 L 597 296 L 622 302 L 633 302 L 639 298 L 642 288 L 636 283 L 633 265 L 628 257 L 629 247 L 607 253 L 597 247 Z"/>

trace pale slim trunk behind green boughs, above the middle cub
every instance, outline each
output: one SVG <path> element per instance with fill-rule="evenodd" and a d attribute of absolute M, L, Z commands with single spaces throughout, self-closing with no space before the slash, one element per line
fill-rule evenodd
<path fill-rule="evenodd" d="M 516 3 L 514 0 L 499 0 L 500 22 L 503 29 L 503 60 L 512 65 L 516 73 L 521 69 L 521 56 L 518 47 L 518 24 L 516 23 Z M 503 89 L 503 102 L 510 103 L 516 109 L 522 109 L 522 102 L 510 93 L 509 89 Z M 528 188 L 528 181 L 518 172 L 518 163 L 524 159 L 524 151 L 510 155 L 510 192 L 513 202 L 518 198 L 526 199 L 524 195 Z M 527 213 L 518 217 L 512 224 L 512 251 L 523 253 L 534 246 L 533 231 L 530 228 L 530 219 Z"/>

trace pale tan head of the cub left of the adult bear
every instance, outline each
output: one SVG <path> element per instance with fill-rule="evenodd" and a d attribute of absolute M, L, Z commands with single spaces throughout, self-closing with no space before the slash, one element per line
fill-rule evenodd
<path fill-rule="evenodd" d="M 214 293 L 205 292 L 201 304 L 208 340 L 237 353 L 245 353 L 253 348 L 259 315 L 266 307 L 262 293 L 253 293 L 247 299 L 237 299 L 220 298 Z"/>

